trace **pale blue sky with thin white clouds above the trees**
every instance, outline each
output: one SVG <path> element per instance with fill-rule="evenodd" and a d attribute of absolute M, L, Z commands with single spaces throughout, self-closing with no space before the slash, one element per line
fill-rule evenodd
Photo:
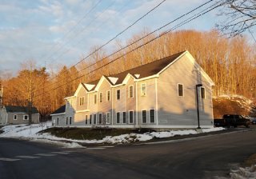
<path fill-rule="evenodd" d="M 46 64 L 47 68 L 75 64 L 88 54 L 90 47 L 101 46 L 160 2 L 162 0 L 1 0 L 0 74 L 15 74 L 22 62 L 31 59 L 38 66 Z M 155 30 L 203 2 L 206 1 L 167 0 L 118 39 L 125 43 L 145 27 Z M 222 21 L 218 13 L 218 9 L 213 10 L 178 30 L 211 30 Z M 106 46 L 106 51 L 114 44 Z"/>

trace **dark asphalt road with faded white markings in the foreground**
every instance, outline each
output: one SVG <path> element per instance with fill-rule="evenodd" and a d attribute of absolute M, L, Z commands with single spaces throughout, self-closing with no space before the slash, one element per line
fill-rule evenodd
<path fill-rule="evenodd" d="M 82 149 L 0 138 L 0 179 L 227 177 L 230 168 L 254 153 L 255 129 L 158 144 Z"/>

